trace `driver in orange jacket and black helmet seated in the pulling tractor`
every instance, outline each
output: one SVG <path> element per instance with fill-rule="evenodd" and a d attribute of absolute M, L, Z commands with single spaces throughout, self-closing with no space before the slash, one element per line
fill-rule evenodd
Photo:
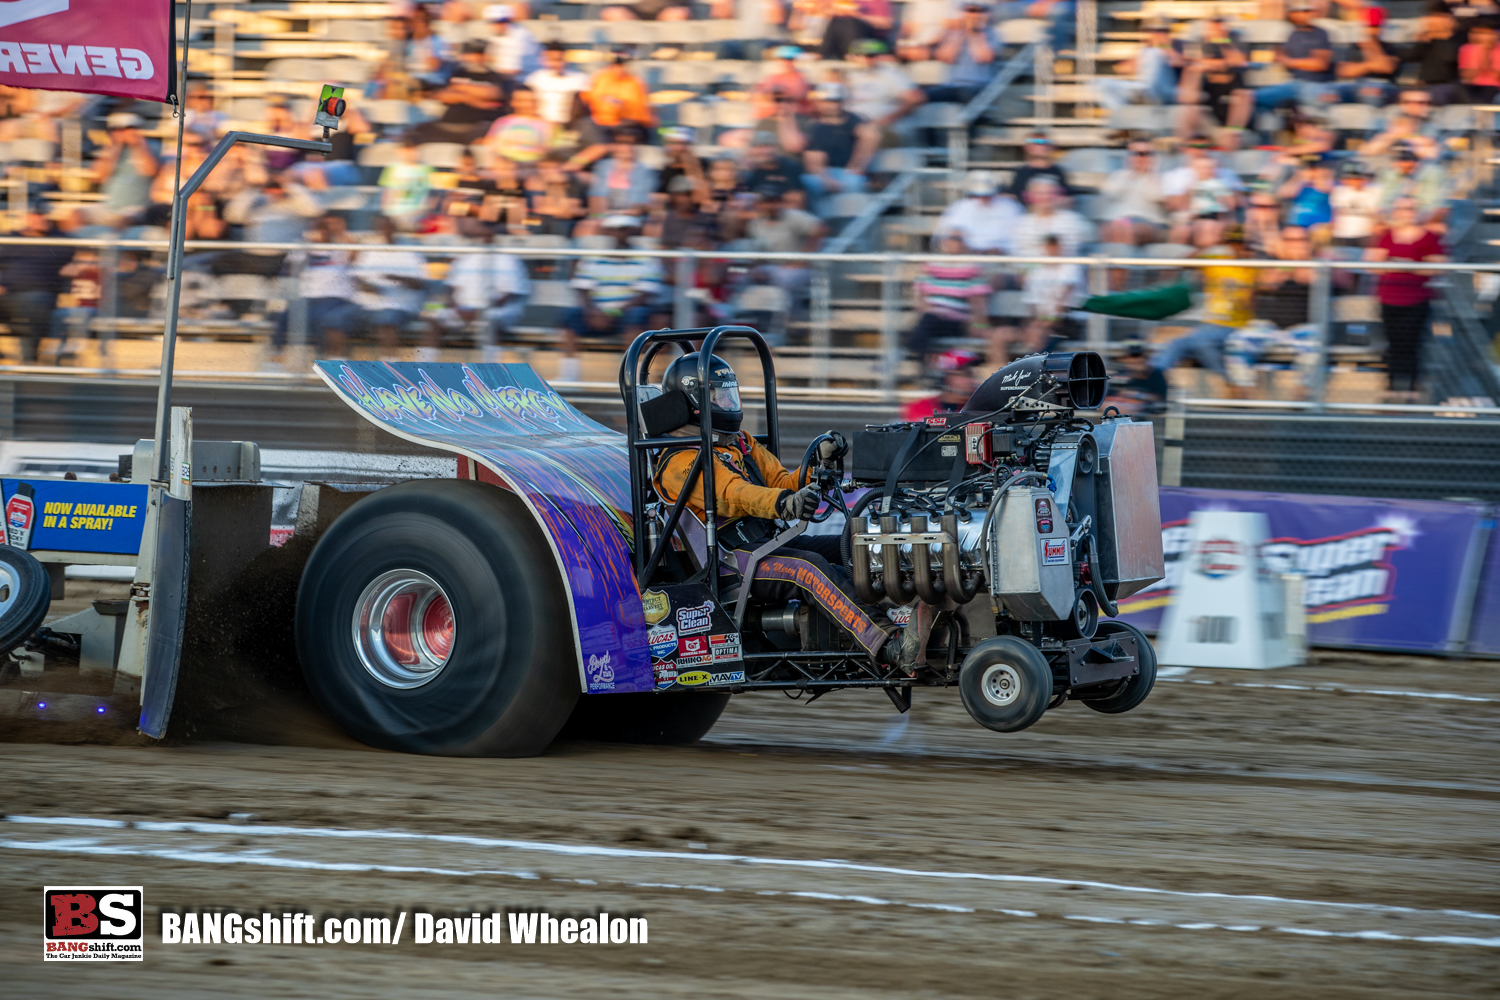
<path fill-rule="evenodd" d="M 693 420 L 672 432 L 672 436 L 698 438 L 702 414 L 698 409 L 698 358 L 684 354 L 672 361 L 662 378 L 662 391 L 682 390 L 690 400 Z M 771 451 L 753 436 L 740 430 L 744 411 L 740 408 L 740 379 L 723 358 L 712 355 L 710 369 L 710 426 L 714 430 L 714 499 L 720 517 L 718 540 L 730 549 L 740 571 L 750 567 L 752 553 L 776 534 L 772 519 L 800 520 L 818 511 L 818 486 L 796 487 L 796 475 L 789 472 Z M 676 502 L 693 469 L 698 448 L 684 444 L 668 448 L 656 474 L 657 495 Z M 687 507 L 704 519 L 704 484 L 693 484 Z M 920 628 L 906 628 L 897 642 L 888 642 L 894 625 L 878 625 L 860 604 L 840 561 L 838 535 L 796 535 L 760 561 L 750 592 L 765 601 L 788 601 L 800 597 L 816 604 L 830 621 L 843 627 L 855 642 L 878 661 L 910 669 L 921 642 Z M 918 603 L 910 621 L 918 624 Z"/>

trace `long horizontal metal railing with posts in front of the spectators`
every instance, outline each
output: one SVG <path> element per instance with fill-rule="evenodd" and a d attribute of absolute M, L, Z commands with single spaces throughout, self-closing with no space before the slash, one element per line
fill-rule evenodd
<path fill-rule="evenodd" d="M 117 307 L 111 301 L 112 295 L 118 294 L 118 282 L 112 279 L 112 265 L 108 261 L 116 259 L 122 250 L 147 250 L 147 252 L 164 252 L 166 249 L 165 240 L 68 240 L 68 238 L 26 238 L 26 237 L 0 237 L 0 246 L 69 246 L 69 247 L 94 247 L 100 250 L 100 271 L 105 280 L 102 282 L 102 298 L 99 303 L 100 316 L 117 315 Z M 1108 268 L 1140 268 L 1140 270 L 1180 270 L 1180 268 L 1208 268 L 1208 267 L 1224 267 L 1222 259 L 1198 259 L 1198 258 L 1112 258 L 1112 256 L 1071 256 L 1071 258 L 1042 258 L 1042 256 L 998 256 L 998 255 L 944 255 L 944 253 L 849 253 L 849 252 L 820 252 L 814 255 L 808 253 L 772 253 L 772 252 L 723 252 L 723 250 L 639 250 L 639 249 L 586 249 L 586 247 L 530 247 L 530 246 L 435 246 L 435 244 L 374 244 L 374 243 L 234 243 L 234 241 L 189 241 L 189 252 L 202 250 L 267 250 L 267 252 L 369 252 L 369 250 L 404 250 L 423 255 L 428 258 L 458 258 L 468 255 L 510 255 L 520 256 L 524 259 L 536 261 L 562 261 L 562 259 L 580 259 L 580 258 L 652 258 L 666 261 L 675 261 L 676 265 L 672 271 L 663 268 L 664 273 L 675 273 L 675 282 L 672 286 L 672 312 L 676 321 L 681 324 L 684 316 L 693 315 L 693 298 L 690 297 L 692 280 L 690 276 L 693 268 L 700 261 L 735 261 L 742 264 L 783 264 L 783 265 L 814 265 L 819 268 L 837 265 L 837 264 L 852 264 L 864 265 L 870 270 L 879 271 L 880 294 L 879 303 L 879 334 L 880 348 L 874 354 L 878 355 L 879 378 L 876 379 L 880 387 L 880 396 L 885 400 L 897 399 L 897 370 L 902 363 L 902 345 L 900 333 L 903 330 L 903 318 L 908 313 L 906 300 L 902 294 L 902 285 L 908 282 L 908 276 L 903 273 L 909 265 L 921 265 L 928 262 L 945 262 L 945 264 L 980 264 L 990 268 L 1014 268 L 1020 270 L 1028 265 L 1036 264 L 1078 264 L 1089 268 L 1092 273 L 1100 274 Z M 1310 321 L 1320 330 L 1320 354 L 1318 364 L 1316 369 L 1314 381 L 1308 387 L 1308 399 L 1305 406 L 1312 409 L 1330 408 L 1334 405 L 1324 403 L 1326 384 L 1323 373 L 1328 369 L 1329 358 L 1329 328 L 1330 328 L 1330 301 L 1332 301 L 1332 276 L 1336 271 L 1425 271 L 1434 274 L 1443 273 L 1500 273 L 1500 262 L 1490 264 L 1472 264 L 1472 262 L 1414 262 L 1414 261 L 1276 261 L 1276 259 L 1242 259 L 1234 261 L 1234 267 L 1244 268 L 1312 268 L 1314 280 L 1310 294 Z M 290 280 L 294 283 L 296 276 Z M 830 381 L 834 379 L 836 373 L 832 370 L 832 330 L 834 316 L 831 307 L 825 304 L 819 307 L 818 298 L 818 282 L 813 282 L 813 322 L 810 324 L 808 343 L 812 346 L 812 378 L 810 388 L 816 391 L 826 391 L 830 388 Z M 826 294 L 826 286 L 825 286 Z M 292 298 L 296 298 L 296 289 L 292 289 Z M 159 322 L 159 318 L 150 319 L 150 322 Z M 1104 324 L 1098 325 L 1098 333 L 1095 333 L 1089 346 L 1104 348 L 1107 328 Z M 296 331 L 292 331 L 296 334 Z M 292 339 L 292 343 L 297 343 Z M 848 381 L 848 379 L 844 379 Z M 1452 408 L 1444 408 L 1452 409 Z"/>

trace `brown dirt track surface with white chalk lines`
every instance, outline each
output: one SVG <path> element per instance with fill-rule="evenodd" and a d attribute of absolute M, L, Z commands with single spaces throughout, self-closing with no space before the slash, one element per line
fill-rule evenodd
<path fill-rule="evenodd" d="M 1197 670 L 1011 736 L 952 691 L 740 697 L 696 747 L 532 760 L 273 724 L 300 745 L 0 745 L 8 996 L 1500 993 L 1500 664 Z M 144 885 L 146 963 L 44 964 L 44 885 Z M 160 907 L 603 909 L 651 940 L 165 946 Z"/>

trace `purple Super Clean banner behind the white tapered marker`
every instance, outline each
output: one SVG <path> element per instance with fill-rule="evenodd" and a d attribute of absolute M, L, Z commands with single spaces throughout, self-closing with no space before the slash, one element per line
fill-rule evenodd
<path fill-rule="evenodd" d="M 1120 601 L 1125 621 L 1156 628 L 1182 573 L 1196 510 L 1266 514 L 1266 562 L 1304 574 L 1310 643 L 1436 652 L 1462 639 L 1452 634 L 1461 621 L 1462 568 L 1480 555 L 1488 507 L 1444 501 L 1162 487 L 1167 576 Z"/>

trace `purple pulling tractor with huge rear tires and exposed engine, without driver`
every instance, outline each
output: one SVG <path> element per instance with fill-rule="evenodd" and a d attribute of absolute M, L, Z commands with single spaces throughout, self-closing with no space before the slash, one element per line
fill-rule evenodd
<path fill-rule="evenodd" d="M 957 687 L 996 732 L 1068 700 L 1114 714 L 1146 699 L 1150 643 L 1108 619 L 1162 576 L 1152 432 L 1080 414 L 1104 399 L 1096 354 L 1014 361 L 963 412 L 867 427 L 852 454 L 820 435 L 798 471 L 818 513 L 741 565 L 718 538 L 710 421 L 681 432 L 710 412 L 710 358 L 734 340 L 760 360 L 759 439 L 777 453 L 776 370 L 748 327 L 640 334 L 624 438 L 526 366 L 321 361 L 362 415 L 458 454 L 458 481 L 370 493 L 308 559 L 297 652 L 334 721 L 393 750 L 525 756 L 564 726 L 693 741 L 744 691 L 879 688 L 906 711 L 916 687 Z M 651 384 L 676 351 L 700 352 L 696 399 Z M 652 475 L 684 444 L 699 457 L 668 502 Z M 704 519 L 686 504 L 696 483 Z M 812 603 L 752 595 L 758 562 L 804 532 L 840 535 L 860 601 L 894 624 L 916 601 L 940 612 L 926 663 L 880 663 Z"/>

